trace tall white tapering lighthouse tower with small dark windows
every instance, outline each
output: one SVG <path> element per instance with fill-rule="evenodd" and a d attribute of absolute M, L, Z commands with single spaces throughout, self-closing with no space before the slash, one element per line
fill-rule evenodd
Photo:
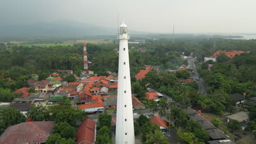
<path fill-rule="evenodd" d="M 130 37 L 127 34 L 127 26 L 123 22 L 119 26 L 117 125 L 115 128 L 117 144 L 135 143 L 128 39 Z"/>

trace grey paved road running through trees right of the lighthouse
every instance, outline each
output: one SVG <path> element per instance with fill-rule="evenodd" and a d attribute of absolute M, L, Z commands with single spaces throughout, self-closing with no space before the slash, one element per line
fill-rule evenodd
<path fill-rule="evenodd" d="M 189 65 L 188 65 L 188 69 L 192 69 L 192 71 L 194 71 L 194 79 L 196 80 L 196 77 L 199 77 L 199 74 L 197 73 L 196 71 L 196 68 L 195 68 L 195 58 L 191 58 L 189 59 L 188 61 Z M 199 83 L 199 93 L 201 94 L 206 94 L 206 83 L 202 80 L 202 79 L 199 79 L 199 81 L 197 81 Z"/>

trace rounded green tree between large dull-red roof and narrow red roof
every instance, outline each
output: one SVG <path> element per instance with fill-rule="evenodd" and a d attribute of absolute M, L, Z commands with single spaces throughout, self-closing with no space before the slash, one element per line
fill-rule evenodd
<path fill-rule="evenodd" d="M 74 139 L 75 128 L 72 127 L 67 122 L 61 122 L 61 123 L 57 123 L 54 125 L 53 133 L 60 134 L 61 137 L 66 138 L 66 139 L 69 139 L 69 138 Z"/>

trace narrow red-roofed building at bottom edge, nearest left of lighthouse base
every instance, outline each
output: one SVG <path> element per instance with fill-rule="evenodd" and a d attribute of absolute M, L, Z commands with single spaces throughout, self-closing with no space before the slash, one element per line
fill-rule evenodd
<path fill-rule="evenodd" d="M 90 118 L 83 121 L 77 131 L 77 144 L 90 144 L 96 141 L 96 123 Z"/>

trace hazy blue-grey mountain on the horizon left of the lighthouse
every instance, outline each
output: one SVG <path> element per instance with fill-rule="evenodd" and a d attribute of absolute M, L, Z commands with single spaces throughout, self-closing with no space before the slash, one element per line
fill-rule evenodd
<path fill-rule="evenodd" d="M 71 37 L 84 35 L 115 35 L 117 29 L 73 21 L 37 22 L 31 25 L 0 26 L 0 36 Z"/>

